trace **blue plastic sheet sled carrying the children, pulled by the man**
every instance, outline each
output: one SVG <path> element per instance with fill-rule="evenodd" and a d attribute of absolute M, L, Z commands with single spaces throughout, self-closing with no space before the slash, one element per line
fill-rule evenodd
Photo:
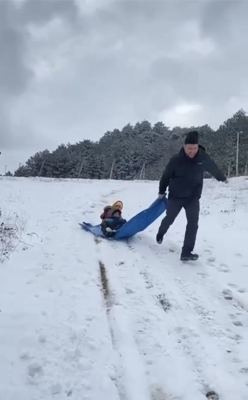
<path fill-rule="evenodd" d="M 116 231 L 116 234 L 111 238 L 112 240 L 118 239 L 127 239 L 131 236 L 136 235 L 138 232 L 142 232 L 149 225 L 151 225 L 163 212 L 165 212 L 167 207 L 167 198 L 163 198 L 163 200 L 156 199 L 149 208 L 139 212 L 139 214 L 132 217 L 129 221 L 126 222 L 120 229 Z M 95 236 L 104 237 L 102 233 L 101 226 L 92 225 L 87 222 L 83 222 L 81 227 L 93 233 Z"/>

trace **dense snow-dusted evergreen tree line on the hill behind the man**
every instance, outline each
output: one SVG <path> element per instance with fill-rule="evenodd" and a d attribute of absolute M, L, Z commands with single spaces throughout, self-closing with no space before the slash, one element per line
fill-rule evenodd
<path fill-rule="evenodd" d="M 60 144 L 31 156 L 14 176 L 84 179 L 158 180 L 169 158 L 178 152 L 189 130 L 199 132 L 200 144 L 228 175 L 248 173 L 248 118 L 240 109 L 217 130 L 209 125 L 170 129 L 163 122 L 144 120 L 106 132 L 100 140 Z M 237 135 L 239 140 L 237 144 Z"/>

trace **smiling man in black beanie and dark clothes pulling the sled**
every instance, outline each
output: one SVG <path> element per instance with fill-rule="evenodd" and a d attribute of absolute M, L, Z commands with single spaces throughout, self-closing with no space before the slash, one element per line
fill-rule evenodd
<path fill-rule="evenodd" d="M 169 160 L 159 182 L 159 198 L 166 195 L 169 186 L 166 216 L 161 221 L 157 233 L 157 243 L 163 242 L 163 236 L 173 224 L 182 208 L 185 209 L 187 227 L 184 237 L 181 260 L 197 260 L 198 254 L 192 254 L 198 230 L 201 192 L 203 189 L 203 173 L 209 172 L 218 181 L 227 183 L 217 164 L 198 144 L 199 134 L 191 131 L 185 138 L 180 152 Z"/>

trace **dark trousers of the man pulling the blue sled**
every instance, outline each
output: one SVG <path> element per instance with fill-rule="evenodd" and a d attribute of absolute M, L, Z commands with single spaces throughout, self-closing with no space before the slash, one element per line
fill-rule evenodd
<path fill-rule="evenodd" d="M 200 202 L 198 198 L 193 199 L 169 199 L 167 202 L 166 216 L 162 219 L 158 233 L 164 235 L 175 221 L 181 209 L 185 209 L 187 226 L 184 236 L 182 253 L 192 252 L 198 230 L 200 213 Z"/>

